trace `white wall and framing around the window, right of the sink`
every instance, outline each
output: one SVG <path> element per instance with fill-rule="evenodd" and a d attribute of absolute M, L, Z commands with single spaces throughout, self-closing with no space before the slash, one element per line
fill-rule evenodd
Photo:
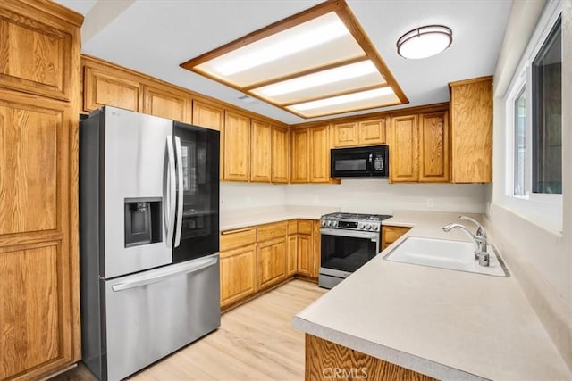
<path fill-rule="evenodd" d="M 552 340 L 572 369 L 572 90 L 562 87 L 563 226 L 561 234 L 546 230 L 520 211 L 505 195 L 506 162 L 504 96 L 543 10 L 543 1 L 515 1 L 495 71 L 493 118 L 493 183 L 488 200 L 488 226 Z M 550 3 L 550 2 L 549 2 Z M 563 0 L 562 83 L 572 83 L 572 0 Z M 568 105 L 568 106 L 567 106 Z"/>

